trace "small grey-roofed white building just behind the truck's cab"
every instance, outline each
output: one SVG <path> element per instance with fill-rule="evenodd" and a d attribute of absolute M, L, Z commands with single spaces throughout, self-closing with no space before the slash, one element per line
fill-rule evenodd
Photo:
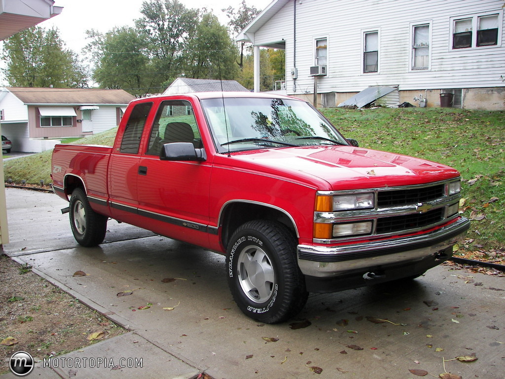
<path fill-rule="evenodd" d="M 163 94 L 215 91 L 247 91 L 247 88 L 235 80 L 177 78 Z"/>

